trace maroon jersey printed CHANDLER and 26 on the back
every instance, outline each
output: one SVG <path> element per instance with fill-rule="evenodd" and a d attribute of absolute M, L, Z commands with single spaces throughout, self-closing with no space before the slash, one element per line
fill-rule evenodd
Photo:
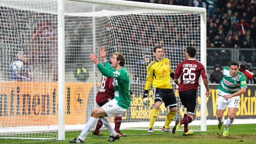
<path fill-rule="evenodd" d="M 207 79 L 205 67 L 196 59 L 186 59 L 182 61 L 175 71 L 174 78 L 179 79 L 179 92 L 191 89 L 198 89 L 198 80 L 200 75 L 203 79 Z"/>

